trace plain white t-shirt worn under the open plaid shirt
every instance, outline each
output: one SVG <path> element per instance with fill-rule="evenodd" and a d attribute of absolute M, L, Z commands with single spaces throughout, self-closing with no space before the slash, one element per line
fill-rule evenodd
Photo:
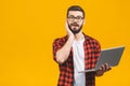
<path fill-rule="evenodd" d="M 74 41 L 74 86 L 86 86 L 86 75 L 84 73 L 78 73 L 84 70 L 84 51 L 83 51 L 83 40 Z"/>

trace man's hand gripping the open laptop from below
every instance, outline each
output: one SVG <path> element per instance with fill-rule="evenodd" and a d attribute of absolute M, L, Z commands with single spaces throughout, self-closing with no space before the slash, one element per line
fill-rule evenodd
<path fill-rule="evenodd" d="M 109 71 L 112 68 L 108 63 L 102 64 L 101 68 L 95 72 L 96 76 L 102 76 L 104 72 Z"/>

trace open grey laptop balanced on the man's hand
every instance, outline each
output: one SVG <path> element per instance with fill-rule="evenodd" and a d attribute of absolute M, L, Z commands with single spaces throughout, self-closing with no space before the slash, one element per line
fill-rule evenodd
<path fill-rule="evenodd" d="M 84 71 L 79 71 L 79 73 L 94 72 L 100 69 L 102 64 L 108 63 L 110 67 L 118 66 L 121 55 L 123 53 L 125 46 L 112 47 L 101 51 L 100 57 L 94 69 L 89 69 Z"/>

